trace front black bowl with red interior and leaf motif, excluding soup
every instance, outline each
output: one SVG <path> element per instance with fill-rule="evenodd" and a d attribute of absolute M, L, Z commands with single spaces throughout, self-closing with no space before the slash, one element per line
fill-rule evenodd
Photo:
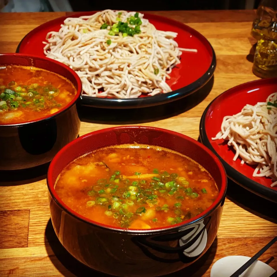
<path fill-rule="evenodd" d="M 219 195 L 198 216 L 164 228 L 115 228 L 89 220 L 56 194 L 56 179 L 72 160 L 100 147 L 141 143 L 172 149 L 201 164 L 215 179 Z M 50 163 L 47 174 L 52 224 L 61 244 L 83 264 L 115 276 L 171 274 L 199 259 L 212 245 L 222 214 L 227 177 L 219 159 L 201 143 L 165 129 L 125 126 L 95 131 L 72 141 Z"/>

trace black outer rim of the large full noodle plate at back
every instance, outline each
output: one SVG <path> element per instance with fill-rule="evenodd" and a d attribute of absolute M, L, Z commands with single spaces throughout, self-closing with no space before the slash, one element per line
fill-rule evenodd
<path fill-rule="evenodd" d="M 19 50 L 20 50 L 21 43 L 33 30 L 27 33 L 24 36 L 24 38 L 19 42 L 16 48 L 16 53 L 20 53 Z M 209 46 L 211 47 L 212 62 L 208 70 L 193 83 L 168 93 L 159 94 L 155 96 L 142 97 L 142 98 L 116 99 L 116 98 L 96 98 L 96 97 L 82 95 L 80 100 L 81 105 L 95 107 L 95 108 L 110 108 L 110 109 L 145 108 L 145 107 L 157 106 L 157 105 L 169 103 L 175 100 L 179 100 L 181 98 L 184 98 L 196 92 L 212 78 L 214 74 L 214 70 L 216 69 L 216 54 L 214 52 L 214 48 L 201 33 L 199 33 L 199 35 L 202 36 L 203 39 L 205 39 L 208 42 Z"/>

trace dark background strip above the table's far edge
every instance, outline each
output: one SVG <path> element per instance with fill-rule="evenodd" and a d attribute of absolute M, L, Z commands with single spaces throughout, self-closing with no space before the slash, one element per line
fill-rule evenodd
<path fill-rule="evenodd" d="M 276 0 L 277 1 L 277 0 Z M 69 0 L 74 12 L 91 10 L 244 10 L 247 0 Z M 257 8 L 260 0 L 254 1 Z"/>

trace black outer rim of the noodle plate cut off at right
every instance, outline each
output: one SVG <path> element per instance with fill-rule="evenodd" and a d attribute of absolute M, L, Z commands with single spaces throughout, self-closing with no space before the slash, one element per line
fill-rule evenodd
<path fill-rule="evenodd" d="M 253 81 L 253 82 L 260 82 L 261 80 L 257 80 L 257 81 Z M 244 85 L 244 84 L 242 84 Z M 240 85 L 239 85 L 240 86 Z M 228 90 L 223 92 L 223 93 L 228 93 Z M 222 93 L 222 94 L 223 94 Z M 212 103 L 220 96 L 222 96 L 222 94 L 220 94 L 219 96 L 217 96 L 205 109 L 201 120 L 200 120 L 200 126 L 199 126 L 199 134 L 200 134 L 200 139 L 201 142 L 208 147 L 211 151 L 214 152 L 214 154 L 216 154 L 216 156 L 220 159 L 220 161 L 222 162 L 225 171 L 227 173 L 227 176 L 234 181 L 235 183 L 237 183 L 238 185 L 242 186 L 243 188 L 246 188 L 247 190 L 249 190 L 250 192 L 253 192 L 254 194 L 257 194 L 267 200 L 270 200 L 272 202 L 277 203 L 277 191 L 273 190 L 271 188 L 267 188 L 266 186 L 263 186 L 261 184 L 259 184 L 258 182 L 253 181 L 252 179 L 246 177 L 245 175 L 243 175 L 242 173 L 240 173 L 239 171 L 237 171 L 236 169 L 234 169 L 231 165 L 229 165 L 224 159 L 221 158 L 221 156 L 216 152 L 216 150 L 214 149 L 214 147 L 212 147 L 211 143 L 209 142 L 209 138 L 207 136 L 206 130 L 205 130 L 205 119 L 206 119 L 206 115 L 207 115 L 207 111 L 209 110 L 210 106 L 212 105 Z"/>

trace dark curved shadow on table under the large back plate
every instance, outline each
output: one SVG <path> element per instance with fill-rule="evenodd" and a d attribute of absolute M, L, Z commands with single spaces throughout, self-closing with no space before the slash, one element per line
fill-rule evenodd
<path fill-rule="evenodd" d="M 214 85 L 214 76 L 198 91 L 166 104 L 133 109 L 106 109 L 79 106 L 78 115 L 82 121 L 102 124 L 138 124 L 153 122 L 188 111 L 201 103 Z M 150 97 L 150 96 L 149 96 Z"/>

